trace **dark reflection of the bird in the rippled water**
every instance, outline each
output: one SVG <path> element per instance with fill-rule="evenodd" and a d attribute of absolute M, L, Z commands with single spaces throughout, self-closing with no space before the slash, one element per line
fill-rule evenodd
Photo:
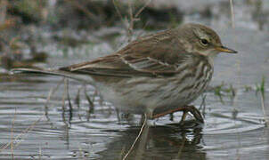
<path fill-rule="evenodd" d="M 115 132 L 115 131 L 113 131 Z M 117 138 L 107 144 L 106 150 L 98 153 L 106 159 L 122 159 L 133 145 L 140 127 L 130 127 L 120 132 Z M 202 126 L 188 121 L 178 124 L 145 125 L 134 150 L 126 159 L 206 159 L 201 150 Z"/>

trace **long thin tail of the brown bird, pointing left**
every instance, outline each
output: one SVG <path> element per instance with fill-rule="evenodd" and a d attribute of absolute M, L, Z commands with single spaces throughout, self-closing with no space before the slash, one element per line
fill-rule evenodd
<path fill-rule="evenodd" d="M 39 69 L 39 68 L 14 68 L 10 72 L 15 74 L 38 74 L 38 75 L 51 75 L 51 76 L 64 76 L 77 81 L 82 81 L 87 84 L 92 84 L 92 78 L 90 76 L 81 76 L 68 71 L 62 71 L 58 69 Z"/>

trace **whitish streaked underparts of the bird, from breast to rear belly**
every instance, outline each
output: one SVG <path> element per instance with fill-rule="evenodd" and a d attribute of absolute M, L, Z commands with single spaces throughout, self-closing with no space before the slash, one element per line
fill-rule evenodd
<path fill-rule="evenodd" d="M 202 73 L 200 73 L 202 72 Z M 190 74 L 185 70 L 171 77 L 134 77 L 110 85 L 99 85 L 105 100 L 120 111 L 143 114 L 148 109 L 161 113 L 188 105 L 207 87 L 213 70 L 197 69 Z"/>

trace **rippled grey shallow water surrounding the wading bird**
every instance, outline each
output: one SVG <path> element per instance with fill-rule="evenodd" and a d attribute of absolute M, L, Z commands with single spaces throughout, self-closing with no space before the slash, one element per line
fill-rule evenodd
<path fill-rule="evenodd" d="M 195 21 L 195 15 L 187 17 L 188 20 Z M 175 113 L 173 121 L 170 116 L 151 121 L 130 159 L 269 159 L 269 129 L 265 124 L 269 116 L 268 32 L 256 31 L 252 28 L 256 25 L 227 28 L 228 25 L 219 21 L 213 20 L 210 25 L 223 43 L 239 54 L 218 56 L 211 85 L 224 83 L 224 88 L 229 88 L 232 84 L 235 96 L 222 92 L 221 98 L 212 90 L 205 92 L 205 106 L 201 107 L 203 125 L 189 120 L 180 127 L 181 113 Z M 115 41 L 121 40 L 118 37 Z M 49 44 L 45 50 L 51 52 L 51 57 L 40 66 L 59 67 L 92 60 L 117 48 L 115 42 L 83 44 L 67 50 Z M 263 76 L 265 109 L 261 94 L 256 91 Z M 50 91 L 58 84 L 58 90 L 48 101 Z M 86 100 L 85 87 L 94 99 L 94 109 Z M 113 106 L 96 95 L 91 85 L 69 80 L 71 108 L 69 100 L 62 100 L 64 93 L 61 77 L 0 76 L 0 159 L 11 159 L 12 155 L 14 159 L 121 159 L 125 156 L 140 131 L 141 116 L 119 115 L 118 118 Z M 193 104 L 200 108 L 201 102 L 202 96 Z M 12 140 L 13 144 L 7 146 Z"/>

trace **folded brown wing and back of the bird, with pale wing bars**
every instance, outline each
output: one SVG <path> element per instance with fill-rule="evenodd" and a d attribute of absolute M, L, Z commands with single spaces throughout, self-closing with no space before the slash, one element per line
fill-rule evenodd
<path fill-rule="evenodd" d="M 60 69 L 99 76 L 173 76 L 188 55 L 176 41 L 165 31 L 142 37 L 114 54 Z"/>

